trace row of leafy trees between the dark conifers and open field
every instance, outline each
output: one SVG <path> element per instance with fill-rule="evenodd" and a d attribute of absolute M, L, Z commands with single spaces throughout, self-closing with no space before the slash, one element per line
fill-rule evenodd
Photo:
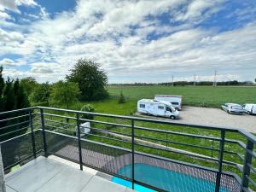
<path fill-rule="evenodd" d="M 108 97 L 107 73 L 100 69 L 100 64 L 80 59 L 64 80 L 54 84 L 39 84 L 36 79 L 21 79 L 26 95 L 33 105 L 70 108 L 78 101 L 98 101 Z"/>

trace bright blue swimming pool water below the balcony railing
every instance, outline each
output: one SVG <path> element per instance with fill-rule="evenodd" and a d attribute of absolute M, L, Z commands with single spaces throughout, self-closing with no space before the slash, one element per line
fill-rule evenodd
<path fill-rule="evenodd" d="M 171 192 L 214 192 L 215 190 L 215 183 L 206 179 L 191 177 L 183 173 L 172 172 L 171 170 L 148 164 L 135 164 L 134 167 L 135 180 L 159 189 Z M 131 165 L 122 167 L 118 174 L 124 177 L 131 177 Z M 112 181 L 131 188 L 131 182 L 125 179 L 113 177 Z M 155 191 L 138 184 L 135 184 L 134 188 L 139 192 Z M 229 189 L 225 188 L 220 188 L 220 191 L 230 192 Z"/>

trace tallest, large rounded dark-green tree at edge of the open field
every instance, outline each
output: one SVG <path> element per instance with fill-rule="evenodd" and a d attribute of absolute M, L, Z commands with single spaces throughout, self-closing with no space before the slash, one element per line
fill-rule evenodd
<path fill-rule="evenodd" d="M 71 74 L 67 75 L 67 81 L 79 84 L 82 100 L 93 101 L 108 97 L 108 76 L 100 67 L 94 61 L 80 59 L 71 69 Z"/>

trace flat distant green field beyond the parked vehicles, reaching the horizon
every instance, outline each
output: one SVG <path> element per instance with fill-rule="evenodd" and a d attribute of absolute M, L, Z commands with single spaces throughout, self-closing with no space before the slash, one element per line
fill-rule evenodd
<path fill-rule="evenodd" d="M 109 86 L 111 96 L 119 96 L 120 91 L 129 100 L 153 98 L 156 94 L 181 95 L 183 104 L 199 107 L 219 108 L 224 102 L 256 103 L 256 87 L 212 87 L 212 86 Z"/>

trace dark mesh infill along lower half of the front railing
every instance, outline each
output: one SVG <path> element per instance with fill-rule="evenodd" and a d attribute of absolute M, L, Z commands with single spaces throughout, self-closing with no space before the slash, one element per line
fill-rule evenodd
<path fill-rule="evenodd" d="M 78 140 L 73 137 L 46 132 L 48 150 L 67 160 L 79 163 Z M 119 148 L 81 141 L 85 166 L 119 177 L 131 178 L 131 153 Z M 135 154 L 135 180 L 159 189 L 175 192 L 212 192 L 217 173 Z M 221 192 L 238 192 L 240 185 L 234 177 L 222 175 Z"/>

